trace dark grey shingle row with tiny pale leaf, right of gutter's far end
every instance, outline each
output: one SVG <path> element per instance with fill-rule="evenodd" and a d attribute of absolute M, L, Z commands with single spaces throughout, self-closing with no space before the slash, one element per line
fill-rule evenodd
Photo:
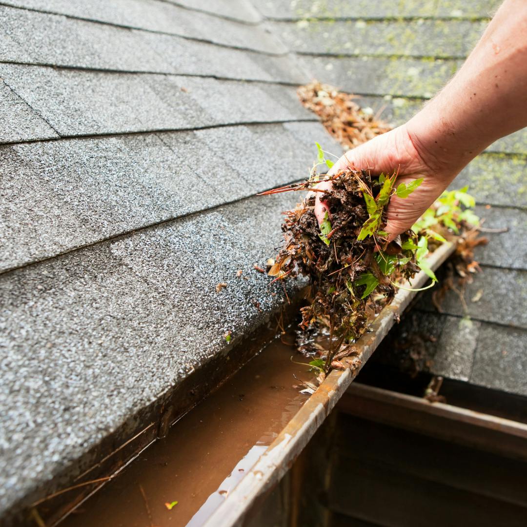
<path fill-rule="evenodd" d="M 483 272 L 475 275 L 472 284 L 465 288 L 466 314 L 475 320 L 527 328 L 527 271 L 482 269 Z M 430 291 L 419 300 L 418 307 L 424 311 L 435 309 Z M 462 302 L 454 291 L 446 293 L 441 309 L 447 315 L 465 315 Z"/>

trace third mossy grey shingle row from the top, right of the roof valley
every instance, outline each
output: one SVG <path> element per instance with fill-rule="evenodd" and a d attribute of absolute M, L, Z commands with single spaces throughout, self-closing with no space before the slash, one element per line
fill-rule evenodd
<path fill-rule="evenodd" d="M 432 97 L 457 70 L 457 60 L 309 57 L 300 63 L 314 77 L 350 93 Z"/>

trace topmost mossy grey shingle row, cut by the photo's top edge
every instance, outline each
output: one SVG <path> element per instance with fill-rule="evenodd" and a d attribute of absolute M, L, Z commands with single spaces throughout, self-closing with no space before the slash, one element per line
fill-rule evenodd
<path fill-rule="evenodd" d="M 465 2 L 422 2 L 422 0 L 262 0 L 258 8 L 271 18 L 386 18 L 386 17 L 489 17 L 501 0 L 466 0 Z"/>

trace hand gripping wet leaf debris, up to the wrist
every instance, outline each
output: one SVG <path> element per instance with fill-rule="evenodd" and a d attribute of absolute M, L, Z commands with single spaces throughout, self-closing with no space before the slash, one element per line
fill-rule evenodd
<path fill-rule="evenodd" d="M 438 162 L 432 154 L 419 151 L 418 145 L 419 142 L 409 132 L 408 126 L 399 126 L 348 151 L 328 172 L 329 175 L 333 175 L 348 167 L 358 170 L 369 169 L 376 175 L 381 172 L 391 175 L 394 171 L 398 171 L 396 184 L 424 178 L 421 186 L 407 198 L 392 197 L 387 209 L 388 221 L 385 229 L 390 235 L 390 240 L 411 228 L 458 172 L 455 168 Z M 329 190 L 331 182 L 323 181 L 317 185 L 317 188 Z M 328 208 L 324 200 L 325 194 L 321 192 L 316 194 L 315 215 L 321 223 Z"/>

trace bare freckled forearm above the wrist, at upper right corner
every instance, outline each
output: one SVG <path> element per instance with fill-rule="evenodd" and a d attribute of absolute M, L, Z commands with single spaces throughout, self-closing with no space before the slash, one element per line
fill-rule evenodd
<path fill-rule="evenodd" d="M 505 0 L 451 82 L 406 126 L 445 179 L 496 139 L 527 126 L 525 0 Z"/>

